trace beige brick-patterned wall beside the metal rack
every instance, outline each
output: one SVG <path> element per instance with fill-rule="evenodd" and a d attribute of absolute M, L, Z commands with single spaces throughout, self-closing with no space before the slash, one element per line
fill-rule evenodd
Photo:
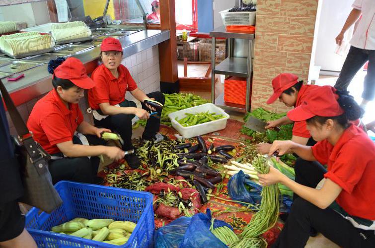
<path fill-rule="evenodd" d="M 288 110 L 279 101 L 266 104 L 273 92 L 271 80 L 279 73 L 307 80 L 317 6 L 318 0 L 258 0 L 252 109 Z"/>

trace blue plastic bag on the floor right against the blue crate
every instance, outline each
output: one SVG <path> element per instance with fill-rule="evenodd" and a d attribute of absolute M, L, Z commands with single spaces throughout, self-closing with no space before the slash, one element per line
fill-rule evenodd
<path fill-rule="evenodd" d="M 155 248 L 178 248 L 184 239 L 191 222 L 190 217 L 180 217 L 155 231 L 153 244 Z"/>

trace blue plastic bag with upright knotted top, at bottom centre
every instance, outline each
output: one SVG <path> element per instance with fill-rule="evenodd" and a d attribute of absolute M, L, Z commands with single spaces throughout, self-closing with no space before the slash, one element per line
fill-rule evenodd
<path fill-rule="evenodd" d="M 207 214 L 195 214 L 191 218 L 190 225 L 186 230 L 184 240 L 180 244 L 179 248 L 227 248 L 227 246 L 216 238 L 215 235 L 210 231 L 210 226 L 210 209 L 207 209 Z M 222 226 L 227 226 L 233 230 L 233 228 L 224 221 L 215 220 L 214 228 Z"/>

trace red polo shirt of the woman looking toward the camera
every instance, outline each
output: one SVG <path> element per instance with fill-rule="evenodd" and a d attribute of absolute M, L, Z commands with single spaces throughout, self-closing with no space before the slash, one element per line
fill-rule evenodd
<path fill-rule="evenodd" d="M 91 75 L 95 87 L 88 90 L 88 104 L 91 109 L 100 109 L 100 103 L 116 105 L 125 101 L 127 90 L 137 89 L 137 83 L 129 70 L 122 64 L 117 68 L 119 77 L 116 78 L 104 64 L 99 65 Z"/>

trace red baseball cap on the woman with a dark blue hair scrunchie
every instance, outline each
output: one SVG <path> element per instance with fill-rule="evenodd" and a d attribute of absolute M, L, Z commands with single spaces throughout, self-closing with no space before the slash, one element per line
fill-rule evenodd
<path fill-rule="evenodd" d="M 68 79 L 82 89 L 91 89 L 95 86 L 94 81 L 86 74 L 86 68 L 77 58 L 70 57 L 60 64 L 53 72 L 54 76 Z"/>

